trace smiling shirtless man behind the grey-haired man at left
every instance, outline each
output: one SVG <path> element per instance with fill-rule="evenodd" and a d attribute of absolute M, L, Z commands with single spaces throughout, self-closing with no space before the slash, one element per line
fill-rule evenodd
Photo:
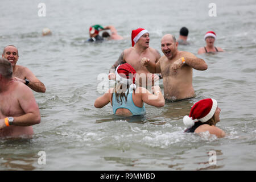
<path fill-rule="evenodd" d="M 3 49 L 2 57 L 9 60 L 13 66 L 14 80 L 20 81 L 26 84 L 29 88 L 35 92 L 46 92 L 46 86 L 35 77 L 35 75 L 26 67 L 16 65 L 19 59 L 19 52 L 15 46 L 6 46 Z"/>

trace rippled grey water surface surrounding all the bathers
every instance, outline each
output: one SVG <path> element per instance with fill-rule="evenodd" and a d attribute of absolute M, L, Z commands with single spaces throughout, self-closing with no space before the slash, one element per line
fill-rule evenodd
<path fill-rule="evenodd" d="M 46 16 L 39 16 L 45 3 Z M 217 16 L 209 16 L 210 3 Z M 18 64 L 46 85 L 34 92 L 42 121 L 30 139 L 0 139 L 1 170 L 255 170 L 256 169 L 256 2 L 255 1 L 3 1 L 0 47 L 19 49 Z M 92 24 L 117 28 L 125 39 L 86 43 Z M 193 71 L 196 97 L 146 105 L 142 117 L 120 118 L 109 105 L 94 108 L 99 84 L 108 84 L 109 68 L 131 46 L 131 30 L 150 32 L 160 48 L 164 34 L 189 29 L 191 46 L 178 46 L 204 59 L 207 71 Z M 41 35 L 44 27 L 52 36 Z M 215 31 L 222 53 L 197 55 L 204 34 Z M 101 80 L 103 75 L 105 80 Z M 105 76 L 105 77 L 104 77 Z M 163 91 L 163 82 L 159 82 Z M 218 139 L 183 133 L 184 115 L 203 98 L 221 108 L 226 132 Z M 39 151 L 46 154 L 40 163 Z M 210 164 L 211 152 L 216 164 Z"/>

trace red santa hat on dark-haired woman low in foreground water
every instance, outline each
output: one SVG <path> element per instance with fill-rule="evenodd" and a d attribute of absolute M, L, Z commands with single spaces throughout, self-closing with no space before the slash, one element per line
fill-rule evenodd
<path fill-rule="evenodd" d="M 187 127 L 191 127 L 196 121 L 207 122 L 213 117 L 217 109 L 217 101 L 213 98 L 205 98 L 196 102 L 190 110 L 189 116 L 185 115 L 183 123 Z"/>

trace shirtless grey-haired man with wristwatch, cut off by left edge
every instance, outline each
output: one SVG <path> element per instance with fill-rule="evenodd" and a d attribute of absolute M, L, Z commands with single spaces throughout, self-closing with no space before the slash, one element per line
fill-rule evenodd
<path fill-rule="evenodd" d="M 0 138 L 31 136 L 31 125 L 40 123 L 40 111 L 32 90 L 14 81 L 10 61 L 0 58 Z"/>

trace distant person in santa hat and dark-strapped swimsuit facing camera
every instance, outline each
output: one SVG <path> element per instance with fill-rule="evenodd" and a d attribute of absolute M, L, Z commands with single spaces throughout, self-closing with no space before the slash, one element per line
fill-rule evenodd
<path fill-rule="evenodd" d="M 216 34 L 213 31 L 208 31 L 204 35 L 204 40 L 207 43 L 207 46 L 199 48 L 198 54 L 213 53 L 213 52 L 224 52 L 222 48 L 214 46 L 214 42 L 216 40 Z"/>

